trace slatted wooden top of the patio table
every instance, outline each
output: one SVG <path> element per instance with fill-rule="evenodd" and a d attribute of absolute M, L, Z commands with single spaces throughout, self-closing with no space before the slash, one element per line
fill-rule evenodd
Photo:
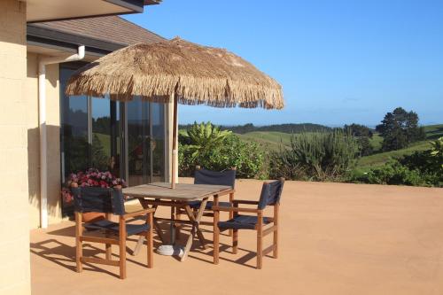
<path fill-rule="evenodd" d="M 195 201 L 214 195 L 226 195 L 234 191 L 228 185 L 176 183 L 171 189 L 169 182 L 152 182 L 123 189 L 123 194 L 132 198 L 160 198 Z"/>

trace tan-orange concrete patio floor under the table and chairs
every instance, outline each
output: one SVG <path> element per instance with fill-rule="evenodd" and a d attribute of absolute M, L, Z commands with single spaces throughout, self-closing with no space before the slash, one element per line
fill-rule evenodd
<path fill-rule="evenodd" d="M 236 198 L 257 199 L 260 186 L 238 181 Z M 74 271 L 74 222 L 35 229 L 30 233 L 32 292 L 443 294 L 443 189 L 286 182 L 280 222 L 280 257 L 266 257 L 261 270 L 253 268 L 255 232 L 244 230 L 237 255 L 227 247 L 230 238 L 221 236 L 218 266 L 212 264 L 212 246 L 201 250 L 195 240 L 188 260 L 155 254 L 154 268 L 148 269 L 144 246 L 136 257 L 128 255 L 124 281 L 118 268 Z M 211 229 L 203 228 L 212 239 Z M 129 241 L 128 252 L 135 245 Z M 103 248 L 90 245 L 85 254 L 104 255 Z M 117 247 L 113 250 L 117 253 Z"/>

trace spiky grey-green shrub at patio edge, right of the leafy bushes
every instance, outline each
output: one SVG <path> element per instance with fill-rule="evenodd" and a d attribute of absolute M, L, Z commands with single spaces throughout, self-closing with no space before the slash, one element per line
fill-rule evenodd
<path fill-rule="evenodd" d="M 343 180 L 358 157 L 359 144 L 341 130 L 303 133 L 291 137 L 291 148 L 270 157 L 271 178 Z"/>

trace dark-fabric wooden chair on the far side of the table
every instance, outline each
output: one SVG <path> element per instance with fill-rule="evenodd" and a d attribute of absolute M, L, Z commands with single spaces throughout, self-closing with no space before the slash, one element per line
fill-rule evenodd
<path fill-rule="evenodd" d="M 211 171 L 197 166 L 194 174 L 194 184 L 228 185 L 233 189 L 235 189 L 236 172 L 237 172 L 236 167 L 232 167 L 224 171 Z M 234 193 L 232 192 L 229 194 L 229 202 L 219 202 L 219 206 L 226 206 L 226 207 L 232 206 L 233 199 L 234 199 Z M 200 204 L 201 201 L 190 202 L 190 208 L 194 210 L 194 213 L 200 207 Z M 212 209 L 213 205 L 214 204 L 212 201 L 208 201 L 206 203 L 204 216 L 214 217 L 214 212 Z M 183 209 L 177 208 L 176 211 L 177 220 L 180 220 L 180 216 L 182 213 Z M 229 212 L 229 219 L 232 218 L 233 216 L 234 213 Z M 213 221 L 201 221 L 200 224 L 214 226 L 214 219 Z M 176 232 L 178 234 L 179 230 L 177 230 Z"/>

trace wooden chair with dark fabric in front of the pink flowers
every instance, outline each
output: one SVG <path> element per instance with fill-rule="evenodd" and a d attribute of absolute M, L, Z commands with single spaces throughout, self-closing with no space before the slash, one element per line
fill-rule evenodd
<path fill-rule="evenodd" d="M 75 260 L 77 272 L 82 272 L 83 263 L 97 263 L 120 267 L 120 278 L 126 278 L 126 239 L 132 235 L 144 236 L 147 241 L 147 267 L 153 267 L 152 216 L 155 209 L 144 209 L 126 213 L 121 190 L 95 187 L 72 188 L 75 210 Z M 106 219 L 82 222 L 82 213 L 106 213 Z M 109 221 L 111 215 L 118 215 L 119 222 Z M 128 219 L 146 215 L 144 224 L 130 224 Z M 105 244 L 105 259 L 83 257 L 83 242 Z M 119 260 L 112 259 L 112 245 L 120 248 Z"/>

